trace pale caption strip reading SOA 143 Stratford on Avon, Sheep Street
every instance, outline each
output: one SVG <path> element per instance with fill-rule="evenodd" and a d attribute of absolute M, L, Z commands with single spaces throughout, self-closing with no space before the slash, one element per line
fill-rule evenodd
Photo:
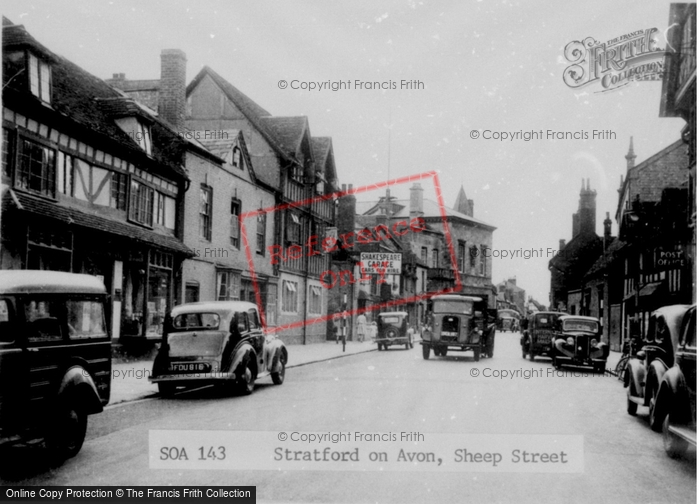
<path fill-rule="evenodd" d="M 151 469 L 582 473 L 581 435 L 152 430 Z"/>

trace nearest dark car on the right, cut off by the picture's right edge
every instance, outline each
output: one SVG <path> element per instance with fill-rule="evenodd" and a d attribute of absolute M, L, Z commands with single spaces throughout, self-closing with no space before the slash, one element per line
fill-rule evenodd
<path fill-rule="evenodd" d="M 657 416 L 663 418 L 664 449 L 671 457 L 698 445 L 697 435 L 697 307 L 681 325 L 676 363 L 664 373 L 656 396 Z"/>

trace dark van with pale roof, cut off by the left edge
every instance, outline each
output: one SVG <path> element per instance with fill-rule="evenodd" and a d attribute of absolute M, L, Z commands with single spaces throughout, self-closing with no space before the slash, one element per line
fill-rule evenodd
<path fill-rule="evenodd" d="M 44 440 L 64 460 L 109 402 L 107 292 L 91 275 L 0 271 L 0 446 Z"/>

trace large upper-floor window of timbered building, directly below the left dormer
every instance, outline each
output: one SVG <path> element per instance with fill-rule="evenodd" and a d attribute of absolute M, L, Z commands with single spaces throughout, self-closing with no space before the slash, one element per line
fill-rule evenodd
<path fill-rule="evenodd" d="M 51 198 L 56 197 L 55 151 L 31 140 L 20 143 L 16 185 Z"/>

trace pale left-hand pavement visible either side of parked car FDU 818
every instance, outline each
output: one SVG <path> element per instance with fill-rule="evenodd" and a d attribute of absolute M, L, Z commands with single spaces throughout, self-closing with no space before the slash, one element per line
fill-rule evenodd
<path fill-rule="evenodd" d="M 311 345 L 288 345 L 287 369 L 376 350 L 377 345 L 373 341 L 350 341 L 345 345 L 345 352 L 342 344 L 336 344 L 333 341 Z M 142 357 L 120 355 L 112 359 L 110 406 L 158 395 L 158 386 L 148 381 L 153 369 L 154 357 L 154 352 L 148 352 Z"/>

